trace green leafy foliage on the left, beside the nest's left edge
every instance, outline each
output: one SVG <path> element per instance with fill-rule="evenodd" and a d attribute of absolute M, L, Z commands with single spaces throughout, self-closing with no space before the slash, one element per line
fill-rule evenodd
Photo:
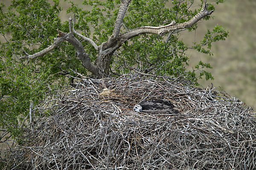
<path fill-rule="evenodd" d="M 25 121 L 30 103 L 38 104 L 45 93 L 57 88 L 53 83 L 61 77 L 56 73 L 68 69 L 70 60 L 73 65 L 78 64 L 76 59 L 67 57 L 68 53 L 64 57 L 63 51 L 68 49 L 63 44 L 40 59 L 17 59 L 23 51 L 33 54 L 51 45 L 57 30 L 64 29 L 60 11 L 58 0 L 52 6 L 45 0 L 13 0 L 6 9 L 0 5 L 0 34 L 5 40 L 0 45 L 0 127 L 7 128 L 13 136 L 20 133 L 18 122 L 21 125 Z"/>

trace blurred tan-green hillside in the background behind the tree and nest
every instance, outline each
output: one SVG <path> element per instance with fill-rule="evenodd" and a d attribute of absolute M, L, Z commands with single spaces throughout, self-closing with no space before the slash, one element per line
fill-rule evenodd
<path fill-rule="evenodd" d="M 214 0 L 208 0 L 212 3 Z M 0 0 L 8 6 L 9 0 Z M 81 4 L 83 0 L 73 0 Z M 195 0 L 195 4 L 201 3 Z M 66 14 L 70 4 L 61 1 L 63 12 L 61 19 L 68 20 L 70 15 Z M 84 7 L 80 5 L 80 7 Z M 195 6 L 198 8 L 198 6 Z M 231 96 L 236 96 L 249 106 L 256 106 L 256 0 L 226 0 L 225 3 L 215 5 L 212 14 L 214 20 L 201 21 L 198 23 L 196 32 L 183 31 L 181 38 L 188 46 L 192 46 L 195 40 L 199 42 L 207 32 L 215 25 L 221 25 L 229 30 L 226 41 L 212 43 L 213 56 L 199 54 L 197 51 L 189 50 L 189 70 L 195 66 L 200 59 L 210 63 L 213 69 L 207 70 L 212 73 L 214 81 L 199 79 L 198 82 L 206 88 L 211 83 L 215 87 L 221 87 Z M 73 17 L 73 16 L 72 16 Z M 198 73 L 199 74 L 199 73 Z M 221 90 L 218 88 L 218 90 Z"/>

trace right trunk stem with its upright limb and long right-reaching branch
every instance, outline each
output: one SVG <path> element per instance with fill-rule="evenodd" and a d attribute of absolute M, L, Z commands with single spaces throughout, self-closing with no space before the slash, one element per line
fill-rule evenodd
<path fill-rule="evenodd" d="M 118 17 L 116 18 L 116 24 L 114 27 L 113 34 L 107 42 L 102 43 L 102 45 L 100 47 L 99 55 L 95 62 L 96 65 L 98 66 L 98 68 L 102 71 L 102 73 L 105 73 L 105 74 L 108 74 L 109 61 L 110 61 L 114 51 L 116 49 L 118 49 L 122 45 L 123 42 L 125 42 L 133 37 L 139 36 L 141 34 L 159 34 L 159 35 L 163 36 L 164 34 L 166 34 L 166 32 L 169 32 L 169 31 L 174 31 L 174 30 L 183 29 L 183 28 L 189 28 L 189 27 L 193 26 L 195 23 L 197 23 L 199 20 L 206 17 L 207 15 L 212 14 L 212 12 L 213 12 L 213 11 L 207 10 L 208 4 L 206 3 L 206 0 L 203 0 L 203 6 L 202 6 L 201 11 L 198 14 L 196 14 L 194 17 L 192 17 L 192 19 L 189 20 L 188 22 L 175 23 L 175 21 L 172 21 L 172 23 L 170 23 L 166 26 L 158 26 L 158 27 L 143 26 L 143 27 L 139 27 L 139 28 L 135 28 L 133 30 L 127 31 L 124 34 L 118 35 L 118 37 L 116 37 L 117 33 L 119 34 L 119 31 L 120 31 L 120 28 L 122 25 L 122 23 L 120 21 L 123 20 L 125 11 L 128 7 L 128 3 L 130 3 L 130 0 L 128 0 L 128 1 L 123 0 L 123 1 L 122 1 L 122 5 L 119 9 Z M 118 48 L 116 48 L 116 47 L 118 47 Z"/>

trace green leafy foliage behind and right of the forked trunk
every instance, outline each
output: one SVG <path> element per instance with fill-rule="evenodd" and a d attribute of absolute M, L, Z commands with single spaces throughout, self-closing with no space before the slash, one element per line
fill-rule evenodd
<path fill-rule="evenodd" d="M 84 31 L 87 36 L 93 30 L 92 39 L 98 45 L 106 42 L 112 34 L 121 3 L 120 0 L 107 0 L 106 2 L 84 0 L 83 4 L 91 8 L 90 11 L 79 8 L 73 2 L 70 3 L 72 6 L 67 13 L 75 13 L 78 20 L 75 28 Z M 123 20 L 121 33 L 140 26 L 167 25 L 172 20 L 175 20 L 176 23 L 184 23 L 200 11 L 199 6 L 195 10 L 191 9 L 194 0 L 172 0 L 171 8 L 166 8 L 166 3 L 168 3 L 166 0 L 132 0 Z M 217 0 L 216 3 L 223 3 L 223 0 Z M 214 6 L 209 4 L 208 10 L 214 10 Z M 204 20 L 209 19 L 210 16 L 204 18 Z M 196 28 L 197 24 L 188 28 L 188 30 L 193 31 Z M 189 79 L 195 83 L 197 82 L 197 77 L 202 78 L 205 76 L 207 80 L 213 79 L 210 73 L 203 70 L 204 68 L 211 68 L 211 66 L 201 61 L 195 67 L 197 68 L 195 71 L 201 70 L 200 75 L 196 75 L 195 71 L 186 71 L 186 65 L 189 62 L 186 51 L 189 47 L 179 39 L 180 31 L 183 30 L 170 32 L 163 37 L 155 34 L 144 34 L 132 38 L 115 52 L 111 59 L 111 68 L 118 73 L 125 73 L 130 70 L 127 65 L 138 65 L 141 71 L 146 73 L 154 71 L 154 74 L 173 77 L 187 74 Z M 211 43 L 225 40 L 227 36 L 228 32 L 224 28 L 216 26 L 212 31 L 207 31 L 204 40 L 190 48 L 212 55 L 210 52 Z M 90 45 L 85 48 L 93 56 L 96 56 L 96 51 L 93 51 Z"/>

